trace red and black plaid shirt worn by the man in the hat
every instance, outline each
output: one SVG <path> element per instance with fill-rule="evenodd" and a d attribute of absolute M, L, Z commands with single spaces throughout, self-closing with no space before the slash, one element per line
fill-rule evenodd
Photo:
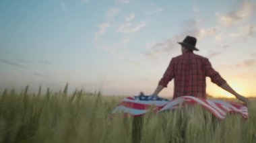
<path fill-rule="evenodd" d="M 212 68 L 207 58 L 193 52 L 186 52 L 170 60 L 170 64 L 158 85 L 167 87 L 169 81 L 174 78 L 173 99 L 185 95 L 206 99 L 206 77 L 210 77 L 212 82 L 218 86 L 226 83 L 219 73 Z"/>

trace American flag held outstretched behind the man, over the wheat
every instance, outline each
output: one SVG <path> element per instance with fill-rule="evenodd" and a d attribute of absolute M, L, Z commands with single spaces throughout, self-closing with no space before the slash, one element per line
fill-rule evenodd
<path fill-rule="evenodd" d="M 124 115 L 141 116 L 152 109 L 156 111 L 156 113 L 160 113 L 177 107 L 185 107 L 186 105 L 195 104 L 201 105 L 219 119 L 224 119 L 227 113 L 238 113 L 242 115 L 243 118 L 248 118 L 247 107 L 240 103 L 227 102 L 218 99 L 199 99 L 192 96 L 178 97 L 173 100 L 164 99 L 154 95 L 127 97 L 119 103 L 111 114 L 124 113 Z"/>

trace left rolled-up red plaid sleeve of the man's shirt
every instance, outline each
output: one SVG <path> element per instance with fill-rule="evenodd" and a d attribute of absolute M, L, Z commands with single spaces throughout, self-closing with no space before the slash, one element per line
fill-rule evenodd
<path fill-rule="evenodd" d="M 163 87 L 167 87 L 169 81 L 172 81 L 174 78 L 174 59 L 170 60 L 170 64 L 166 69 L 164 76 L 159 81 L 158 85 L 162 85 Z"/>

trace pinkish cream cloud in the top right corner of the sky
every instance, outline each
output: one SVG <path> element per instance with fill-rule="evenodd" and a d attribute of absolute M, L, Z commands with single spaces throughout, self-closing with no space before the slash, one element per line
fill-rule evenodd
<path fill-rule="evenodd" d="M 255 3 L 250 0 L 239 1 L 237 7 L 233 7 L 233 9 L 227 14 L 217 13 L 218 19 L 220 23 L 224 26 L 231 26 L 237 21 L 241 21 L 243 19 L 247 19 L 255 12 Z"/>

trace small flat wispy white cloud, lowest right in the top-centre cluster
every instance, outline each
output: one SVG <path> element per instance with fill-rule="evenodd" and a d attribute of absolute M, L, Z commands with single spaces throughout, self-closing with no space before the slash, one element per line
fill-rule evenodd
<path fill-rule="evenodd" d="M 117 29 L 117 32 L 127 34 L 127 33 L 134 33 L 139 31 L 141 28 L 145 27 L 145 22 L 140 22 L 136 25 L 131 24 L 130 22 L 122 23 L 121 26 Z"/>

